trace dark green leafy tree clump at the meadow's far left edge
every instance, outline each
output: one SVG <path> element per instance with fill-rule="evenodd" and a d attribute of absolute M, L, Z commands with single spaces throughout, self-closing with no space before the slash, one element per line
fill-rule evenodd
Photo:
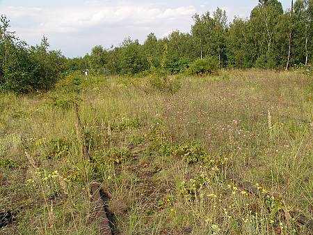
<path fill-rule="evenodd" d="M 65 68 L 61 52 L 49 51 L 47 38 L 42 43 L 29 47 L 9 31 L 5 16 L 0 18 L 0 89 L 27 93 L 47 91 L 54 86 Z"/>

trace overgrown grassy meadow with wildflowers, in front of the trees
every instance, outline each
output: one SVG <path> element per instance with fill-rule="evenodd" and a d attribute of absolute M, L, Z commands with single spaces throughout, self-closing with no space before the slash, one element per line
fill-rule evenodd
<path fill-rule="evenodd" d="M 0 234 L 99 234 L 92 181 L 110 195 L 115 234 L 312 232 L 286 212 L 313 216 L 312 76 L 77 77 L 0 94 L 0 209 L 17 213 Z"/>

